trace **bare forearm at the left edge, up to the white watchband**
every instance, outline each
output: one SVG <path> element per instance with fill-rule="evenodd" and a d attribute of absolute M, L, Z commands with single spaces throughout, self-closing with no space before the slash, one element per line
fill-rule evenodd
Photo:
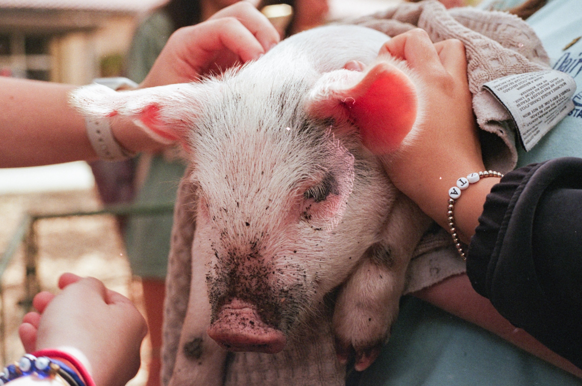
<path fill-rule="evenodd" d="M 0 167 L 97 158 L 85 121 L 67 102 L 74 86 L 0 78 Z"/>

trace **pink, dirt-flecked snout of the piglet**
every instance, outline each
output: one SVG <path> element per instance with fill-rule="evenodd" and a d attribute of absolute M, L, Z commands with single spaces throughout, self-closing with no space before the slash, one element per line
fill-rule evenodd
<path fill-rule="evenodd" d="M 254 305 L 238 299 L 222 306 L 207 333 L 228 351 L 275 354 L 287 341 L 285 334 L 261 320 Z"/>

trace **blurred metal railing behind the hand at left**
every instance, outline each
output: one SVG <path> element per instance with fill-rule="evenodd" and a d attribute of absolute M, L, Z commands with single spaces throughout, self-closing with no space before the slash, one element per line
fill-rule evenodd
<path fill-rule="evenodd" d="M 3 275 L 6 267 L 12 262 L 13 257 L 24 243 L 24 299 L 19 302 L 24 308 L 30 309 L 34 295 L 40 292 L 40 283 L 37 277 L 37 234 L 35 224 L 38 220 L 54 219 L 56 217 L 77 217 L 77 216 L 157 216 L 173 213 L 174 203 L 163 203 L 157 205 L 115 205 L 101 210 L 90 212 L 66 212 L 66 213 L 46 213 L 42 215 L 27 213 L 18 224 L 15 233 L 8 242 L 8 246 L 0 257 L 0 355 L 2 363 L 6 362 L 6 307 L 4 302 Z"/>

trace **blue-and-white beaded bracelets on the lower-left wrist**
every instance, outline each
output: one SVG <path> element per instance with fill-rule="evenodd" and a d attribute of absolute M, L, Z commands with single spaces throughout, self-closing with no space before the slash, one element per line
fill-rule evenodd
<path fill-rule="evenodd" d="M 76 371 L 60 360 L 51 359 L 47 356 L 37 358 L 31 354 L 24 354 L 17 363 L 10 364 L 4 368 L 0 373 L 0 386 L 16 378 L 31 375 L 40 379 L 59 376 L 70 386 L 86 386 Z"/>

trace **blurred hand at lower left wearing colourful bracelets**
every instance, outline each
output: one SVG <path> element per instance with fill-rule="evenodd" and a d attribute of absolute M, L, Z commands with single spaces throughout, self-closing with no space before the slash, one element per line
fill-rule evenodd
<path fill-rule="evenodd" d="M 95 278 L 63 274 L 63 291 L 41 292 L 33 301 L 39 313 L 24 316 L 19 328 L 27 352 L 69 346 L 90 363 L 99 386 L 123 386 L 140 366 L 141 340 L 147 333 L 133 303 Z"/>

